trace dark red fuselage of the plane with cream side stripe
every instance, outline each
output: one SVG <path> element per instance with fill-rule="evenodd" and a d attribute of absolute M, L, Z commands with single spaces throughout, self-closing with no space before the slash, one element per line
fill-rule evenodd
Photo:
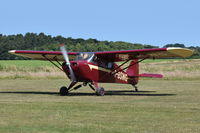
<path fill-rule="evenodd" d="M 124 83 L 133 85 L 138 83 L 137 76 L 133 77 L 131 75 L 130 77 L 116 63 L 92 63 L 86 60 L 71 61 L 70 63 L 77 82 Z M 68 66 L 63 63 L 62 68 L 70 78 Z M 133 71 L 138 72 L 138 67 L 133 69 L 136 69 Z"/>

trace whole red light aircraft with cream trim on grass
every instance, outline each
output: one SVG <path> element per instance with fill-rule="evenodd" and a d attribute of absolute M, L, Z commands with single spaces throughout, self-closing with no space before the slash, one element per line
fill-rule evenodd
<path fill-rule="evenodd" d="M 9 53 L 36 60 L 47 60 L 63 71 L 71 80 L 68 87 L 60 88 L 65 96 L 82 86 L 89 87 L 97 96 L 103 96 L 105 90 L 98 83 L 130 84 L 137 89 L 140 77 L 162 78 L 161 74 L 139 73 L 139 63 L 145 59 L 189 57 L 193 51 L 185 48 L 154 48 L 139 50 L 104 52 L 67 52 L 64 44 L 61 51 L 11 50 Z M 60 63 L 62 62 L 62 63 Z M 121 64 L 119 64 L 121 62 Z M 128 65 L 125 65 L 127 64 Z M 81 84 L 77 85 L 77 83 Z"/>

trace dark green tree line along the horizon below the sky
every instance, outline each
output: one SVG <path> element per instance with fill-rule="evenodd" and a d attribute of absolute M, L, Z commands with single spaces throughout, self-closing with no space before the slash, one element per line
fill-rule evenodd
<path fill-rule="evenodd" d="M 111 51 L 111 50 L 130 50 L 158 48 L 158 46 L 145 45 L 140 43 L 129 43 L 122 41 L 98 41 L 96 39 L 73 39 L 62 36 L 53 37 L 44 33 L 26 33 L 25 35 L 3 35 L 0 34 L 0 60 L 19 60 L 23 57 L 11 55 L 9 50 L 48 50 L 59 51 L 58 44 L 64 43 L 70 52 L 94 52 L 94 51 Z M 183 47 L 184 44 L 167 44 L 164 47 Z M 192 58 L 200 58 L 200 47 L 189 47 L 195 50 Z"/>

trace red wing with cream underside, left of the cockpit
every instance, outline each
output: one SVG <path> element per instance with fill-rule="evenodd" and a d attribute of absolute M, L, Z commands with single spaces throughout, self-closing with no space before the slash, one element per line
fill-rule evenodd
<path fill-rule="evenodd" d="M 60 51 L 10 50 L 9 53 L 35 60 L 65 61 Z M 77 54 L 77 52 L 68 52 L 69 59 L 74 60 Z"/>

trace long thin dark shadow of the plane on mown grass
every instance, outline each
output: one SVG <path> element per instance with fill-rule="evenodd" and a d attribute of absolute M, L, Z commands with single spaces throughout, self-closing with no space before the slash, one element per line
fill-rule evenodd
<path fill-rule="evenodd" d="M 132 90 L 112 90 L 106 91 L 105 96 L 174 96 L 176 94 L 169 93 L 155 93 L 156 91 L 132 91 Z M 38 91 L 3 91 L 0 94 L 36 94 L 36 95 L 56 95 L 59 96 L 58 92 L 38 92 Z M 93 93 L 84 92 L 70 92 L 67 96 L 96 96 Z"/>

